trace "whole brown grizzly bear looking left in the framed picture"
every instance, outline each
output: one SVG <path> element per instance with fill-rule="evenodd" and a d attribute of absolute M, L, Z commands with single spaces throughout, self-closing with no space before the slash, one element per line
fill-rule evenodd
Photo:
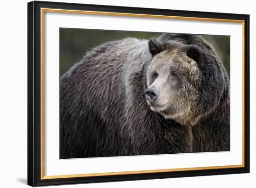
<path fill-rule="evenodd" d="M 125 38 L 60 80 L 60 158 L 229 150 L 229 79 L 201 37 Z"/>

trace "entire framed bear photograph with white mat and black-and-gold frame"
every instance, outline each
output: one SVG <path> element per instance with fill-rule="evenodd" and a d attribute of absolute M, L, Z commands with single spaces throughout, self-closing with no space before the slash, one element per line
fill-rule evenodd
<path fill-rule="evenodd" d="M 28 185 L 249 173 L 249 15 L 28 3 Z"/>

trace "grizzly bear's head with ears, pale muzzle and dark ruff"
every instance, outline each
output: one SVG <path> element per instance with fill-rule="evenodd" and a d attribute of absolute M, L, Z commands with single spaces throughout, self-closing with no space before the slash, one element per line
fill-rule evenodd
<path fill-rule="evenodd" d="M 145 69 L 150 109 L 182 125 L 195 125 L 214 110 L 224 89 L 224 67 L 209 46 L 150 39 L 152 60 Z"/>

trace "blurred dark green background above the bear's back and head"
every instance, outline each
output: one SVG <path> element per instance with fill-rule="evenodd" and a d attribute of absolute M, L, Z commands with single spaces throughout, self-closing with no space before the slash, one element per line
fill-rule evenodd
<path fill-rule="evenodd" d="M 108 31 L 90 29 L 60 29 L 60 76 L 79 62 L 85 52 L 107 41 L 134 37 L 157 38 L 161 33 L 141 31 Z M 229 75 L 229 36 L 201 35 L 216 50 Z"/>

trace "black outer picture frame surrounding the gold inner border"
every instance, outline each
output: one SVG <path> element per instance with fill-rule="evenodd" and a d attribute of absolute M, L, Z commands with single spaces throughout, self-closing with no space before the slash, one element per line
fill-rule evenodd
<path fill-rule="evenodd" d="M 145 180 L 201 175 L 224 175 L 249 173 L 249 15 L 231 13 L 207 13 L 181 10 L 149 9 L 121 6 L 100 6 L 74 3 L 58 3 L 32 1 L 27 4 L 28 15 L 28 125 L 27 125 L 27 184 L 30 186 L 46 186 L 59 184 L 115 182 L 129 180 Z M 207 19 L 241 20 L 244 24 L 244 165 L 239 168 L 200 169 L 172 172 L 156 172 L 127 175 L 101 175 L 88 177 L 68 177 L 43 179 L 41 176 L 41 87 L 40 87 L 40 9 L 65 9 L 81 11 L 97 11 L 112 13 L 150 14 L 176 17 L 193 17 Z"/>

